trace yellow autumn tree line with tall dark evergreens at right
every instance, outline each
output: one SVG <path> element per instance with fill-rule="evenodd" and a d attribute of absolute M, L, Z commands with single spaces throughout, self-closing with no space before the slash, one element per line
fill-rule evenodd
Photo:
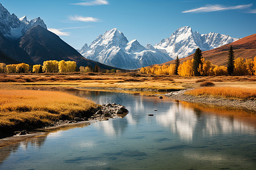
<path fill-rule="evenodd" d="M 217 66 L 213 65 L 209 60 L 205 60 L 200 48 L 197 48 L 193 54 L 193 59 L 188 59 L 182 64 L 180 64 L 177 56 L 175 64 L 142 67 L 139 73 L 180 76 L 256 75 L 256 56 L 254 59 L 244 60 L 241 57 L 234 59 L 234 51 L 230 46 L 226 66 Z"/>

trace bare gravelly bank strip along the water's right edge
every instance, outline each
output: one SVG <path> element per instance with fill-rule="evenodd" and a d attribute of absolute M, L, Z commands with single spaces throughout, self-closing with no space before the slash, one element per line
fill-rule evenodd
<path fill-rule="evenodd" d="M 255 100 L 241 100 L 241 99 L 228 99 L 224 97 L 213 97 L 213 96 L 192 96 L 187 95 L 185 92 L 189 90 L 181 90 L 177 92 L 170 92 L 165 96 L 171 99 L 187 101 L 189 103 L 201 103 L 207 105 L 215 105 L 221 107 L 236 107 L 249 109 L 250 111 L 256 111 Z"/>

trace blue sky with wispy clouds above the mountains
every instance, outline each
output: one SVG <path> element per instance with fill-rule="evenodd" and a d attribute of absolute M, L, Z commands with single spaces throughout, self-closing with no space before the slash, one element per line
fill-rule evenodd
<path fill-rule="evenodd" d="M 1 0 L 18 18 L 38 16 L 48 28 L 76 49 L 118 28 L 127 39 L 155 45 L 183 26 L 200 33 L 218 32 L 232 37 L 256 30 L 254 0 Z"/>

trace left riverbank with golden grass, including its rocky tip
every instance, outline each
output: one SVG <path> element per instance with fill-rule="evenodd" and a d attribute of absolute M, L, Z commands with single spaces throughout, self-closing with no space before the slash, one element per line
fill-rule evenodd
<path fill-rule="evenodd" d="M 97 105 L 64 92 L 0 90 L 0 96 L 0 138 L 30 134 L 36 128 L 108 120 L 127 112 L 122 105 Z"/>

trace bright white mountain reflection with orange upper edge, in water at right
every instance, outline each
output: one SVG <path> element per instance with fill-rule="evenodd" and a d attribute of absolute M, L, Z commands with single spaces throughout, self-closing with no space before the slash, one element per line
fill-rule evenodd
<path fill-rule="evenodd" d="M 221 109 L 222 111 L 224 110 Z M 184 141 L 235 132 L 255 134 L 254 126 L 241 121 L 240 111 L 226 111 L 224 115 L 220 115 L 221 112 L 214 112 L 214 108 L 209 110 L 209 108 L 204 109 L 204 107 L 196 107 L 195 105 L 181 108 L 176 103 L 176 106 L 171 106 L 166 114 L 157 116 L 156 120 L 163 126 L 170 127 L 171 131 L 178 134 L 180 139 Z M 254 116 L 250 113 L 245 114 L 245 117 L 248 116 L 250 119 L 253 117 L 256 120 L 255 114 Z"/>

